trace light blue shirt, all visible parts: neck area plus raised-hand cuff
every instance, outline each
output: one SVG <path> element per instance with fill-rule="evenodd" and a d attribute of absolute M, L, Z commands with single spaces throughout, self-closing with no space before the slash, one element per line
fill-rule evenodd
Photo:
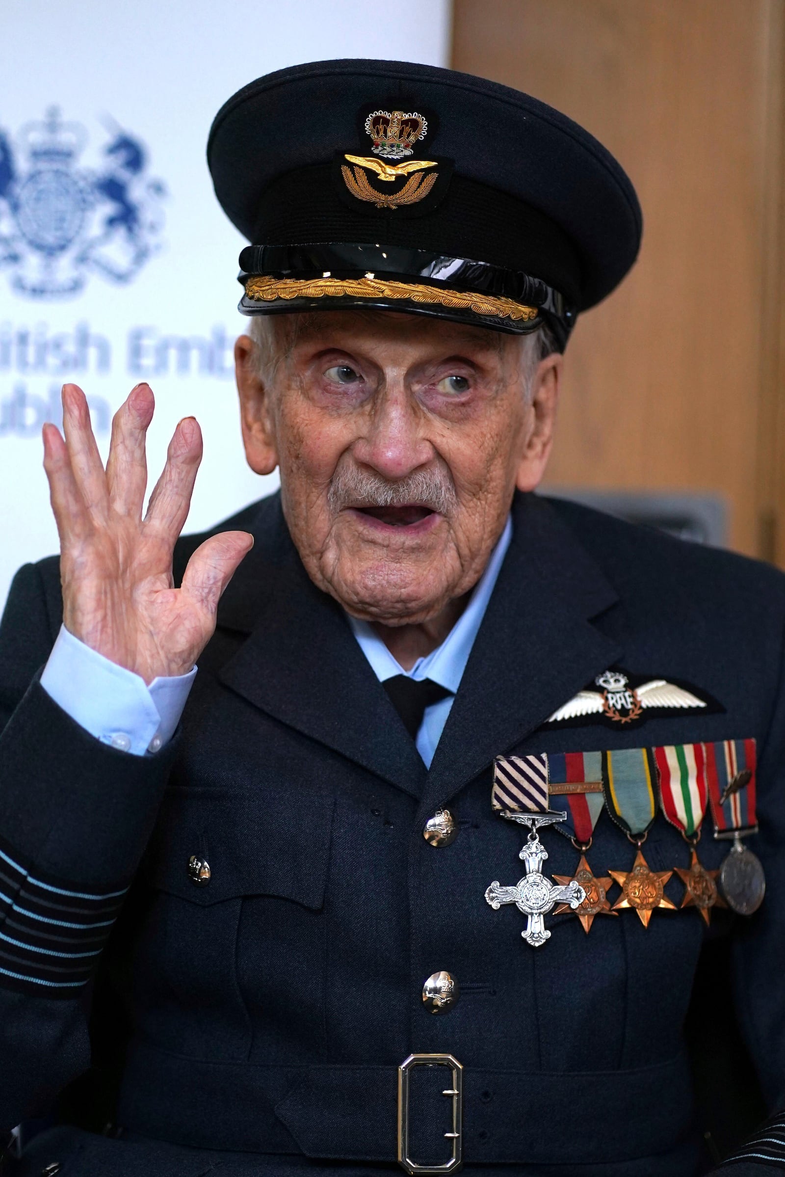
<path fill-rule="evenodd" d="M 350 618 L 360 649 L 380 683 L 394 674 L 407 674 L 418 680 L 430 678 L 453 692 L 426 707 L 417 733 L 417 749 L 428 767 L 511 538 L 512 521 L 507 519 L 468 605 L 441 645 L 427 658 L 418 658 L 408 671 L 395 661 L 366 621 Z M 195 676 L 194 666 L 187 674 L 157 678 L 147 686 L 139 674 L 109 661 L 61 626 L 44 667 L 41 686 L 91 736 L 121 752 L 144 756 L 158 752 L 174 734 Z"/>

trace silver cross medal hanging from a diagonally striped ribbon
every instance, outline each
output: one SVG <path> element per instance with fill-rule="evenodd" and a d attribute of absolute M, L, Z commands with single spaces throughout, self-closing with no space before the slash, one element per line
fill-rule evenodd
<path fill-rule="evenodd" d="M 497 757 L 491 797 L 500 817 L 528 826 L 528 838 L 518 856 L 526 865 L 525 876 L 514 886 L 501 886 L 494 879 L 485 892 L 486 903 L 494 911 L 503 904 L 514 903 L 526 916 L 526 927 L 520 935 L 532 947 L 541 947 L 551 938 L 545 916 L 553 906 L 563 902 L 574 911 L 586 898 L 574 879 L 566 886 L 554 885 L 541 871 L 548 856 L 538 830 L 541 825 L 564 822 L 567 816 L 564 811 L 548 809 L 547 757 Z"/>

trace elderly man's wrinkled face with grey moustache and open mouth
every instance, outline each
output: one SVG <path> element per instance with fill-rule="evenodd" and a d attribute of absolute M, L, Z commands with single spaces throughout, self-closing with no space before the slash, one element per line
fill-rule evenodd
<path fill-rule="evenodd" d="M 560 358 L 392 312 L 264 320 L 237 346 L 251 466 L 280 466 L 312 580 L 354 617 L 424 621 L 479 579 L 515 485 L 539 481 Z"/>

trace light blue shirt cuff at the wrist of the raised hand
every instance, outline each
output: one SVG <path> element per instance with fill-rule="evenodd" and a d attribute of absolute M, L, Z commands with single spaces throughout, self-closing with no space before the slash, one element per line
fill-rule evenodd
<path fill-rule="evenodd" d="M 41 686 L 85 731 L 121 752 L 144 756 L 167 744 L 180 722 L 197 667 L 144 678 L 109 661 L 60 626 Z"/>

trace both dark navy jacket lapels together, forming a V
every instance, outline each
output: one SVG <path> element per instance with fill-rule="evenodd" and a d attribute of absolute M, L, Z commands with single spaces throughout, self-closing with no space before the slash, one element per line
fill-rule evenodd
<path fill-rule="evenodd" d="M 290 727 L 433 809 L 620 658 L 591 624 L 618 600 L 545 500 L 519 496 L 513 539 L 426 773 L 335 601 L 310 580 L 278 497 L 227 588 L 219 625 L 248 633 L 221 680 Z"/>

